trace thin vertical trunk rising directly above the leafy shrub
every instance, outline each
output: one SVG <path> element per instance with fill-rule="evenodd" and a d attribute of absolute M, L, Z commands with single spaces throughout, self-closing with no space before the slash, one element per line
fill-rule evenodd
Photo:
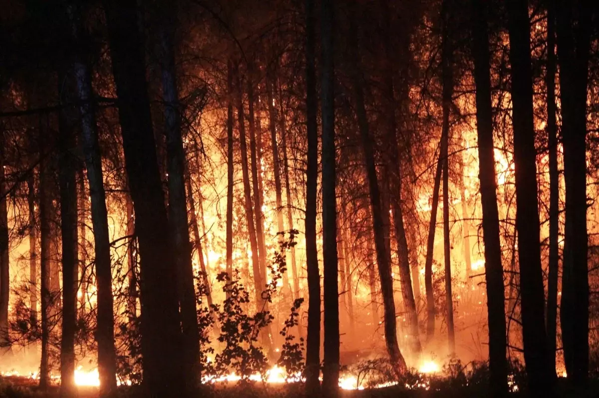
<path fill-rule="evenodd" d="M 227 136 L 227 186 L 226 186 L 226 273 L 229 278 L 233 277 L 233 64 L 231 59 L 227 60 L 227 117 L 226 117 L 226 136 Z M 229 292 L 226 292 L 229 298 Z"/>

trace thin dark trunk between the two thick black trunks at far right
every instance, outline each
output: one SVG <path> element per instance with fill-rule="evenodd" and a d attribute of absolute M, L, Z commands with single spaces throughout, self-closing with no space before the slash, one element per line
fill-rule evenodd
<path fill-rule="evenodd" d="M 547 275 L 547 350 L 555 369 L 559 274 L 559 170 L 555 104 L 555 3 L 547 1 L 547 150 L 549 152 L 549 271 Z"/>

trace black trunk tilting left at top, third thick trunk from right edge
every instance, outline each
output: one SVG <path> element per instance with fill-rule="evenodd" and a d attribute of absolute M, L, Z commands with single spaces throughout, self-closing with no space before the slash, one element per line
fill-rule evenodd
<path fill-rule="evenodd" d="M 489 37 L 485 0 L 473 0 L 474 83 L 476 84 L 476 124 L 479 143 L 480 197 L 483 208 L 485 278 L 489 322 L 489 391 L 494 397 L 507 396 L 506 310 L 497 183 L 493 153 L 493 114 Z"/>

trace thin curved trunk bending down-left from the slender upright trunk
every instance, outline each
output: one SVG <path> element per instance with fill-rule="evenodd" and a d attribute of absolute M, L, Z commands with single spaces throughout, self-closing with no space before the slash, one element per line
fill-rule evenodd
<path fill-rule="evenodd" d="M 437 160 L 437 170 L 432 188 L 431 221 L 428 224 L 428 239 L 426 240 L 426 258 L 424 262 L 424 287 L 426 290 L 426 341 L 431 341 L 435 335 L 435 299 L 432 292 L 432 256 L 435 248 L 435 229 L 437 229 L 437 207 L 439 205 L 439 187 L 443 160 L 441 155 Z"/>

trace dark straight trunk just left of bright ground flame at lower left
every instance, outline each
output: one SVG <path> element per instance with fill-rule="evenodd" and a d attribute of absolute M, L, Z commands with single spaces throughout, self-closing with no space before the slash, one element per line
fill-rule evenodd
<path fill-rule="evenodd" d="M 68 77 L 59 72 L 59 97 L 68 96 Z M 75 325 L 77 324 L 77 176 L 74 132 L 65 111 L 59 112 L 60 241 L 62 242 L 62 330 L 60 396 L 75 393 Z"/>

